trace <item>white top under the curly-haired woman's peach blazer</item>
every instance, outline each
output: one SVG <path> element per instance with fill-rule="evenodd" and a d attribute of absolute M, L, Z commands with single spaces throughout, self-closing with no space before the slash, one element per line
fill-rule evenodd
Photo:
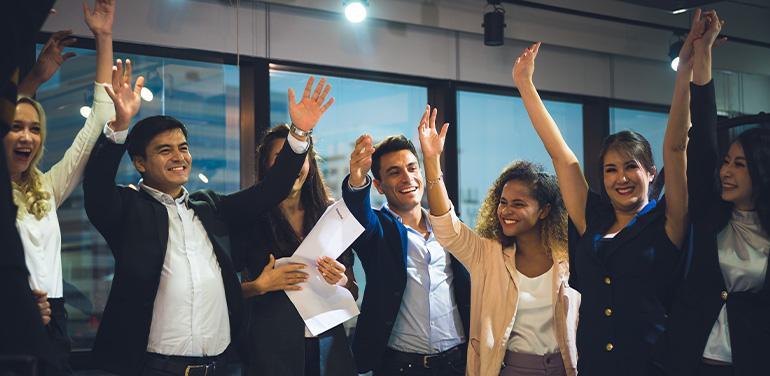
<path fill-rule="evenodd" d="M 510 351 L 545 355 L 559 351 L 553 327 L 553 266 L 529 278 L 518 270 L 519 304 L 508 338 Z"/>

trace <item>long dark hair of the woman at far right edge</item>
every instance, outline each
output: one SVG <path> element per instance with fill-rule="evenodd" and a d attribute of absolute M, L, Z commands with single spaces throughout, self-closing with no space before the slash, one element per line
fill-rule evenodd
<path fill-rule="evenodd" d="M 770 129 L 751 128 L 739 134 L 735 142 L 741 144 L 746 156 L 759 225 L 770 234 Z"/>

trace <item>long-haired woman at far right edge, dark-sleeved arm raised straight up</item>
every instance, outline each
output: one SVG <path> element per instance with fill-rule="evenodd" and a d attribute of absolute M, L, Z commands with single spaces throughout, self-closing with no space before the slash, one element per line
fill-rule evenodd
<path fill-rule="evenodd" d="M 767 374 L 770 354 L 770 130 L 741 133 L 720 161 L 711 48 L 724 21 L 694 43 L 687 185 L 693 256 L 657 344 L 669 375 Z"/>

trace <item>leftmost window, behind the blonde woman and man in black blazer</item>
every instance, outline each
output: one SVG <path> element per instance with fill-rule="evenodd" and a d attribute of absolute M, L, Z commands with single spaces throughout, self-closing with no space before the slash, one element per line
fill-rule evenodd
<path fill-rule="evenodd" d="M 38 45 L 38 53 L 42 45 Z M 48 117 L 46 154 L 41 169 L 58 162 L 85 123 L 80 110 L 93 101 L 96 53 L 78 53 L 37 93 Z M 136 122 L 152 115 L 178 118 L 189 130 L 193 157 L 189 191 L 212 188 L 233 192 L 240 187 L 240 91 L 234 66 L 115 53 L 131 59 L 134 78 L 144 76 L 152 100 L 144 100 Z M 147 97 L 149 99 L 149 97 Z M 139 173 L 124 157 L 116 182 L 134 184 Z M 62 231 L 64 295 L 69 310 L 73 350 L 90 349 L 107 301 L 114 259 L 83 209 L 80 186 L 58 211 Z"/>

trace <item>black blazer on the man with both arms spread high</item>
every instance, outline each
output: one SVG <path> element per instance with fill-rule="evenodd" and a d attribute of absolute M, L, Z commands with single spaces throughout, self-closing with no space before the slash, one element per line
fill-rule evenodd
<path fill-rule="evenodd" d="M 115 276 L 92 350 L 94 364 L 119 375 L 139 374 L 144 365 L 152 310 L 168 244 L 168 213 L 144 191 L 115 185 L 125 145 L 104 135 L 94 146 L 83 180 L 86 214 L 115 257 Z M 261 183 L 221 195 L 210 189 L 189 196 L 206 229 L 222 271 L 230 336 L 241 351 L 243 294 L 231 259 L 230 233 L 253 228 L 256 218 L 288 196 L 305 161 L 287 142 Z M 246 361 L 245 357 L 243 358 Z"/>

